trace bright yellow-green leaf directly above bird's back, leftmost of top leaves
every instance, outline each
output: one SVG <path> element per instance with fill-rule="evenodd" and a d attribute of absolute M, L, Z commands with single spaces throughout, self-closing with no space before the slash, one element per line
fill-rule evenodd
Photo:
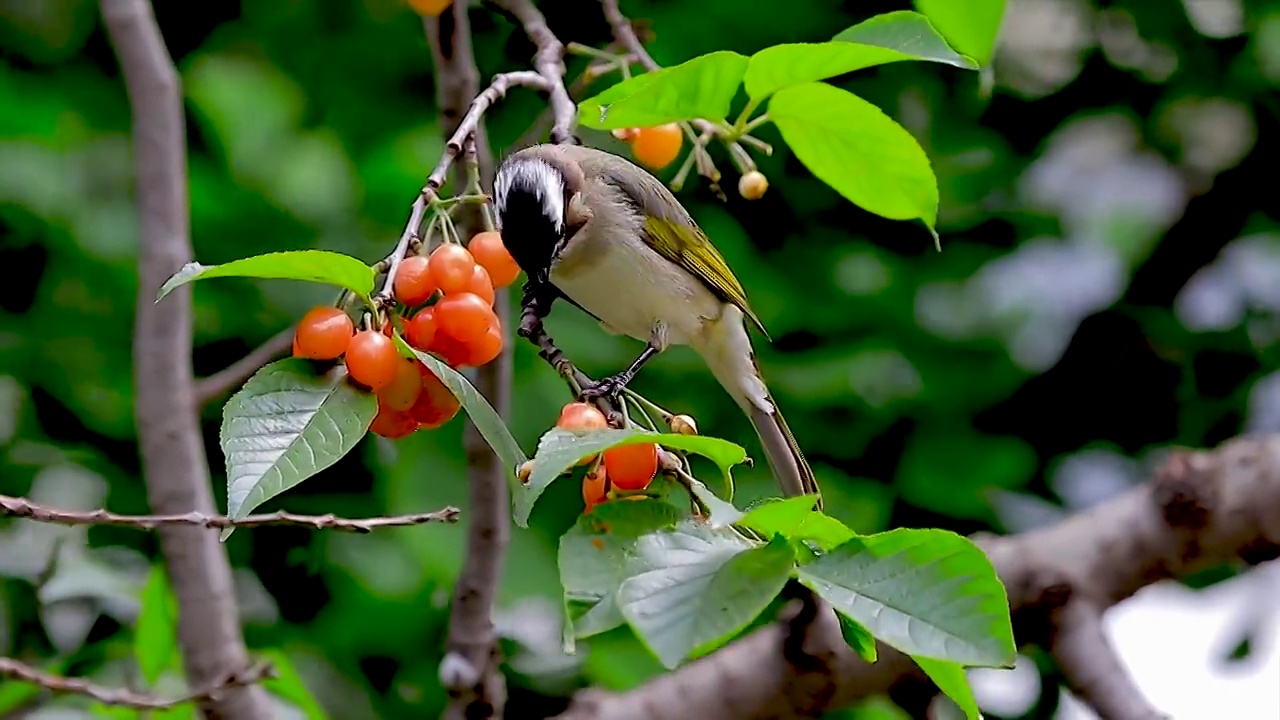
<path fill-rule="evenodd" d="M 722 120 L 742 83 L 748 59 L 721 50 L 625 79 L 577 106 L 590 128 L 653 127 L 677 120 Z"/>

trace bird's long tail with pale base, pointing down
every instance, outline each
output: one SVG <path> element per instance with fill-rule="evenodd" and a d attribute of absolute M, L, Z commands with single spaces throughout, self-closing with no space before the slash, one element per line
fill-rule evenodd
<path fill-rule="evenodd" d="M 708 324 L 705 334 L 694 342 L 694 348 L 703 356 L 716 379 L 728 391 L 739 407 L 751 419 L 755 434 L 760 437 L 764 459 L 773 470 L 787 497 L 800 495 L 818 496 L 817 507 L 822 509 L 822 493 L 813 469 L 800 451 L 791 428 L 782 419 L 778 404 L 773 401 L 764 375 L 755 364 L 751 351 L 751 338 L 742 324 L 742 314 L 735 306 L 728 306 L 719 322 Z"/>

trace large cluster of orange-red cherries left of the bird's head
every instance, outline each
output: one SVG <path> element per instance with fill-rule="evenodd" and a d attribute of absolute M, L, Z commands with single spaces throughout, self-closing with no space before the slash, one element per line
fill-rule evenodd
<path fill-rule="evenodd" d="M 494 288 L 518 275 L 520 266 L 497 232 L 477 233 L 467 247 L 445 242 L 430 256 L 401 260 L 392 284 L 398 311 L 388 313 L 381 329 L 357 331 L 342 309 L 312 307 L 294 331 L 293 356 L 343 359 L 351 379 L 378 396 L 378 415 L 369 428 L 375 434 L 398 439 L 439 428 L 458 414 L 458 398 L 426 365 L 396 350 L 393 324 L 402 323 L 410 346 L 452 368 L 489 364 L 503 346 Z"/>

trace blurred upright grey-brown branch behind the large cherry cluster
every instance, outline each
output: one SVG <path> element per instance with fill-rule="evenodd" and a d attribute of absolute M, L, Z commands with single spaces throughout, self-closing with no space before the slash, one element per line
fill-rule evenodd
<path fill-rule="evenodd" d="M 485 105 L 480 105 L 483 96 L 476 97 L 480 91 L 480 72 L 471 47 L 471 24 L 466 8 L 463 3 L 454 3 L 439 18 L 429 18 L 425 28 L 435 63 L 440 129 L 449 137 L 454 156 L 454 147 L 461 146 L 465 152 L 463 164 L 454 167 L 456 186 L 474 191 L 476 188 L 472 183 L 479 183 L 481 188 L 493 184 L 494 168 L 481 119 Z M 543 79 L 543 76 L 535 77 Z M 554 101 L 554 88 L 550 92 Z M 476 208 L 468 210 L 472 211 L 460 218 L 458 229 L 463 237 L 485 229 L 474 211 Z M 511 328 L 507 300 L 506 288 L 495 293 L 494 310 L 504 331 Z M 511 337 L 509 332 L 507 337 Z M 498 357 L 479 368 L 476 375 L 476 388 L 506 419 L 511 405 L 511 343 L 504 343 Z M 463 442 L 470 495 L 467 550 L 462 573 L 453 588 L 448 647 L 440 665 L 440 680 L 449 693 L 444 717 L 451 720 L 502 717 L 507 702 L 493 605 L 502 582 L 511 534 L 511 498 L 504 477 L 511 469 L 502 466 L 471 421 L 467 421 Z"/>

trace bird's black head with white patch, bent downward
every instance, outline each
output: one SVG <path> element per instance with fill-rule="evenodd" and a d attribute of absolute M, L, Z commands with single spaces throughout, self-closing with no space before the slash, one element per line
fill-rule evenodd
<path fill-rule="evenodd" d="M 498 228 L 507 251 L 531 278 L 547 279 L 563 249 L 570 199 L 581 169 L 552 145 L 536 145 L 503 160 L 493 183 Z"/>

